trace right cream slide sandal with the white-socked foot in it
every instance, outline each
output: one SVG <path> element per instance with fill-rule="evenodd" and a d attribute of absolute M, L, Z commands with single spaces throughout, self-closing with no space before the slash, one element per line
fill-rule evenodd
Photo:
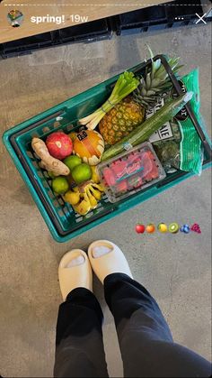
<path fill-rule="evenodd" d="M 93 272 L 102 283 L 111 273 L 125 273 L 133 278 L 123 252 L 109 240 L 93 242 L 88 248 L 88 257 Z"/>

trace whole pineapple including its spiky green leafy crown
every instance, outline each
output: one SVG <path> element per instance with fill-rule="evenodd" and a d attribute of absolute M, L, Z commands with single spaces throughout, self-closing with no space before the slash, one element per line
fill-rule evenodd
<path fill-rule="evenodd" d="M 154 54 L 148 47 L 152 66 L 146 68 L 145 76 L 140 76 L 140 84 L 132 95 L 125 97 L 103 116 L 99 128 L 106 144 L 119 142 L 145 120 L 146 108 L 153 106 L 159 94 L 172 87 L 172 82 L 163 68 L 161 60 L 153 60 Z M 177 73 L 179 58 L 168 59 L 173 71 Z"/>

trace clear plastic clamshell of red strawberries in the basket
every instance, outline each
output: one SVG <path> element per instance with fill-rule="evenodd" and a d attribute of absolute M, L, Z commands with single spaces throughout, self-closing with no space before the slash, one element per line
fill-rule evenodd
<path fill-rule="evenodd" d="M 110 202 L 127 198 L 163 180 L 165 171 L 151 143 L 142 143 L 97 166 Z"/>

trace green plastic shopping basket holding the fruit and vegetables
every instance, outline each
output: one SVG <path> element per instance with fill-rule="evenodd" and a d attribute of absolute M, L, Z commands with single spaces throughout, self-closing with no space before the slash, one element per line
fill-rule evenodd
<path fill-rule="evenodd" d="M 155 56 L 154 60 L 161 59 L 164 69 L 169 74 L 173 87 L 178 95 L 181 94 L 181 87 L 172 73 L 167 60 L 163 55 Z M 137 65 L 130 69 L 135 73 L 143 72 L 146 66 L 151 64 L 151 60 Z M 51 235 L 57 242 L 66 242 L 76 235 L 81 235 L 94 226 L 100 225 L 128 210 L 137 204 L 158 195 L 163 190 L 171 188 L 173 185 L 192 176 L 190 172 L 177 171 L 167 175 L 167 177 L 155 185 L 120 200 L 117 203 L 110 203 L 104 196 L 98 207 L 82 217 L 75 213 L 73 208 L 64 202 L 61 196 L 56 196 L 51 189 L 51 179 L 47 171 L 40 169 L 39 159 L 31 149 L 31 138 L 38 136 L 42 139 L 55 131 L 63 130 L 70 133 L 79 129 L 78 119 L 89 115 L 110 96 L 111 88 L 114 86 L 119 75 L 110 78 L 103 83 L 86 90 L 67 101 L 50 108 L 49 110 L 36 115 L 31 119 L 18 124 L 6 131 L 3 141 L 7 151 L 10 153 L 13 162 L 22 175 L 22 179 L 30 189 L 40 213 L 47 225 Z M 203 169 L 208 168 L 211 163 L 211 145 L 208 135 L 203 132 L 197 119 L 193 115 L 190 105 L 187 111 L 196 127 L 205 151 Z"/>

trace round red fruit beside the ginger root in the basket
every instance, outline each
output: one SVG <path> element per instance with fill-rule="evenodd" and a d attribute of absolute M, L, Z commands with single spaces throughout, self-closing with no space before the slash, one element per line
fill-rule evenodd
<path fill-rule="evenodd" d="M 46 140 L 47 148 L 53 158 L 63 160 L 73 151 L 73 143 L 68 135 L 57 132 L 50 134 Z"/>

